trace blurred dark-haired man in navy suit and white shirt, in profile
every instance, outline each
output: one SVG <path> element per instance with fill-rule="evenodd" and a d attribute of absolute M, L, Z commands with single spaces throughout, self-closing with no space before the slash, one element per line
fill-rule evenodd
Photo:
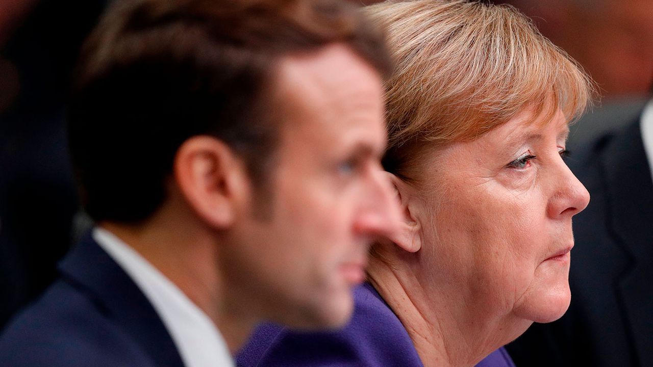
<path fill-rule="evenodd" d="M 229 366 L 264 319 L 343 325 L 398 208 L 381 33 L 330 0 L 114 3 L 69 110 L 97 227 L 3 366 Z"/>

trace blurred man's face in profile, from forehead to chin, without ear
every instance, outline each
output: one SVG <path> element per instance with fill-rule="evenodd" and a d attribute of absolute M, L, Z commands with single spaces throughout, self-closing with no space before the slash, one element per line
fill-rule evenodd
<path fill-rule="evenodd" d="M 238 227 L 231 264 L 249 270 L 249 292 L 272 321 L 338 327 L 353 311 L 368 247 L 398 223 L 385 181 L 381 78 L 342 45 L 283 58 L 272 108 L 280 118 L 270 215 Z M 235 274 L 235 272 L 234 272 Z M 254 298 L 253 298 L 254 299 Z M 279 318 L 279 315 L 283 315 Z"/>

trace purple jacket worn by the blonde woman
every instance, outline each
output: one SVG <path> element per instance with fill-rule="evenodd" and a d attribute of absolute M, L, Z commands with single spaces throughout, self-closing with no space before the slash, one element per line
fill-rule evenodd
<path fill-rule="evenodd" d="M 406 329 L 372 285 L 355 289 L 349 324 L 333 332 L 293 332 L 264 324 L 238 353 L 238 367 L 422 367 Z M 514 367 L 505 349 L 478 366 Z"/>

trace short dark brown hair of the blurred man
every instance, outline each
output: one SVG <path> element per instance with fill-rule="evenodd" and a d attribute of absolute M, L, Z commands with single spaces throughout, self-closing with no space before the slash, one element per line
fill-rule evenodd
<path fill-rule="evenodd" d="M 278 131 L 266 99 L 279 59 L 333 43 L 389 69 L 382 35 L 345 1 L 117 1 L 82 51 L 69 110 L 87 212 L 149 217 L 194 135 L 223 140 L 261 182 Z"/>

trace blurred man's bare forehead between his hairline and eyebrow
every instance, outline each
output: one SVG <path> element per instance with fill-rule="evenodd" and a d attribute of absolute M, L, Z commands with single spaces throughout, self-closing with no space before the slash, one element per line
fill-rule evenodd
<path fill-rule="evenodd" d="M 325 144 L 385 144 L 381 76 L 347 46 L 280 60 L 275 94 L 284 129 Z"/>

